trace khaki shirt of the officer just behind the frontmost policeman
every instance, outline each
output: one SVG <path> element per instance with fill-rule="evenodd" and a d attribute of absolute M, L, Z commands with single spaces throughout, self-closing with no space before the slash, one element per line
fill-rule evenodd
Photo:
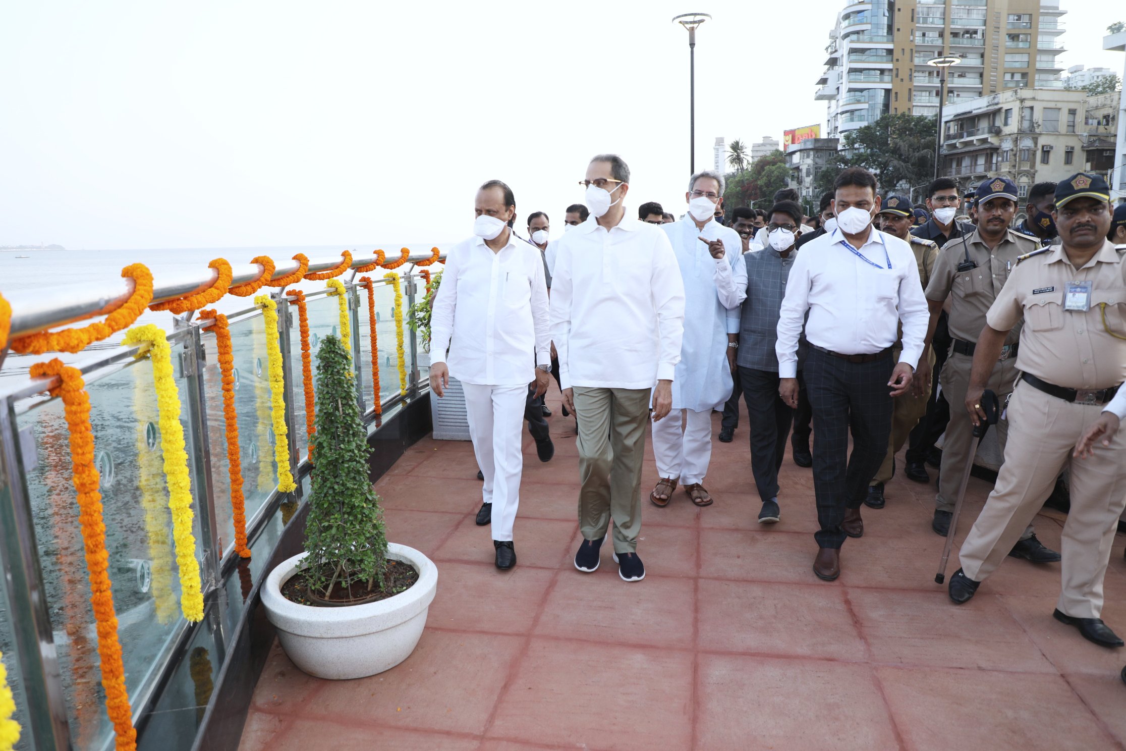
<path fill-rule="evenodd" d="M 927 285 L 927 299 L 942 302 L 947 296 L 950 297 L 948 325 L 951 337 L 963 341 L 977 341 L 985 328 L 985 314 L 1004 287 L 1009 275 L 1017 268 L 1017 258 L 1038 248 L 1039 243 L 1035 240 L 1011 230 L 993 250 L 989 249 L 977 230 L 962 238 L 950 238 L 942 245 L 930 284 Z M 977 268 L 958 271 L 958 263 L 966 259 L 967 252 Z M 1004 343 L 1015 345 L 1019 339 L 1018 321 L 1012 325 Z"/>

